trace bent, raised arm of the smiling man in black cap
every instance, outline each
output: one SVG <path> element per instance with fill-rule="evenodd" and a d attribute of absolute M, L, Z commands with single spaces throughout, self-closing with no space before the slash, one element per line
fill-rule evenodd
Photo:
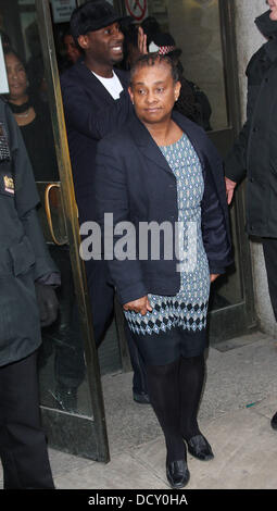
<path fill-rule="evenodd" d="M 61 77 L 61 87 L 67 126 L 96 140 L 101 140 L 111 130 L 123 126 L 133 111 L 127 90 L 123 90 L 119 99 L 113 104 L 99 104 L 95 109 L 81 84 L 63 82 Z"/>

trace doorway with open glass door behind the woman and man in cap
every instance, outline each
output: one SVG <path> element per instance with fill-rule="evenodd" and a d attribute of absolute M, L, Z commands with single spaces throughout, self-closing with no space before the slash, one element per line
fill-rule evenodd
<path fill-rule="evenodd" d="M 74 8 L 84 2 L 67 3 Z M 181 50 L 186 77 L 209 99 L 207 135 L 224 157 L 240 127 L 232 1 L 148 0 L 146 4 L 143 17 L 153 16 L 163 32 L 172 34 Z M 7 36 L 24 63 L 37 120 L 42 112 L 40 128 L 33 130 L 33 166 L 41 197 L 41 226 L 63 283 L 58 290 L 59 321 L 42 332 L 41 411 L 50 446 L 106 462 L 110 453 L 101 376 L 130 371 L 130 364 L 121 320 L 113 322 L 99 350 L 95 345 L 59 80 L 65 58 L 62 36 L 71 11 L 56 14 L 54 7 L 59 1 L 2 0 L 0 8 L 2 42 Z M 122 15 L 130 15 L 125 0 L 114 0 L 114 7 Z M 42 149 L 43 172 L 41 164 L 36 166 L 36 155 L 41 162 Z M 255 324 L 242 190 L 230 215 L 235 264 L 213 287 L 212 345 L 245 334 Z"/>

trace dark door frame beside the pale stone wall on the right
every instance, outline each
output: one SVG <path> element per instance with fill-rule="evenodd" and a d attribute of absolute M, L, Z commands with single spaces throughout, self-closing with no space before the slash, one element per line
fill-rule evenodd
<path fill-rule="evenodd" d="M 224 157 L 240 133 L 241 108 L 236 43 L 236 7 L 232 0 L 218 0 L 218 5 L 228 128 L 226 130 L 212 132 L 210 138 L 218 148 L 223 148 Z M 221 141 L 224 138 L 228 140 L 226 147 Z M 240 267 L 237 271 L 240 273 L 242 298 L 239 303 L 210 312 L 211 344 L 219 342 L 221 340 L 218 339 L 230 339 L 250 333 L 257 327 L 250 241 L 244 228 L 244 185 L 240 186 L 236 191 L 231 209 L 238 240 Z"/>

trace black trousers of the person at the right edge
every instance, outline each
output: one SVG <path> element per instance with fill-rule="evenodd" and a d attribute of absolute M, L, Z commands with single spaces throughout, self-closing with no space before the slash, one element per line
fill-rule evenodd
<path fill-rule="evenodd" d="M 263 238 L 263 250 L 270 301 L 277 321 L 277 238 Z"/>

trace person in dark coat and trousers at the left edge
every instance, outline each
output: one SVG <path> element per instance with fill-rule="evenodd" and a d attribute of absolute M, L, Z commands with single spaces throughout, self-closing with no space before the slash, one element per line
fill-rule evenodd
<path fill-rule="evenodd" d="M 20 128 L 0 100 L 0 458 L 5 489 L 53 488 L 39 417 L 40 325 L 56 317 L 60 276 L 37 219 Z"/>

